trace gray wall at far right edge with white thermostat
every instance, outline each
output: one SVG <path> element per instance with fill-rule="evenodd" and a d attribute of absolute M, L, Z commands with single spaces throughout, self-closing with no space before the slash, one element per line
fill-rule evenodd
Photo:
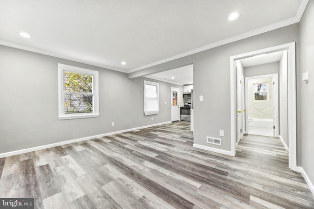
<path fill-rule="evenodd" d="M 298 157 L 302 167 L 314 183 L 314 1 L 310 0 L 300 23 L 300 68 L 298 82 Z M 302 81 L 302 73 L 309 72 L 309 81 Z M 300 147 L 301 146 L 301 147 Z"/>

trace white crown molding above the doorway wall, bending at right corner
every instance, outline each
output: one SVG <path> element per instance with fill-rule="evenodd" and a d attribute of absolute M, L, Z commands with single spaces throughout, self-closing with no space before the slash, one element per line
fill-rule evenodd
<path fill-rule="evenodd" d="M 206 45 L 206 46 L 202 46 L 202 47 L 190 50 L 190 51 L 186 51 L 186 52 L 184 52 L 182 54 L 178 54 L 178 55 L 175 55 L 175 56 L 163 59 L 163 60 L 159 60 L 159 61 L 151 63 L 151 64 L 144 65 L 142 67 L 134 68 L 132 70 L 129 70 L 128 73 L 135 72 L 135 71 L 138 71 L 138 70 L 143 70 L 143 69 L 146 69 L 146 68 L 150 68 L 150 67 L 153 67 L 153 66 L 165 63 L 165 62 L 169 62 L 169 61 L 172 61 L 172 60 L 175 60 L 175 59 L 179 59 L 179 58 L 182 58 L 182 57 L 185 57 L 185 56 L 188 56 L 188 55 L 192 55 L 192 54 L 195 54 L 195 53 L 198 53 L 198 52 L 201 52 L 201 51 L 205 51 L 205 50 L 208 50 L 210 48 L 217 47 L 217 46 L 230 44 L 232 42 L 239 41 L 239 40 L 242 40 L 242 39 L 245 39 L 245 38 L 249 38 L 249 37 L 252 37 L 252 36 L 256 36 L 256 35 L 259 35 L 259 34 L 262 34 L 262 33 L 268 32 L 268 31 L 271 31 L 271 30 L 275 30 L 275 29 L 278 29 L 278 28 L 281 28 L 281 27 L 288 26 L 290 24 L 299 23 L 301 18 L 302 18 L 302 15 L 303 15 L 303 13 L 305 11 L 305 8 L 306 8 L 308 2 L 309 2 L 309 0 L 301 0 L 300 4 L 299 4 L 299 7 L 297 9 L 295 17 L 290 18 L 288 20 L 284 20 L 284 21 L 281 21 L 279 23 L 270 24 L 270 25 L 267 25 L 265 27 L 261 27 L 261 28 L 256 29 L 256 30 L 252 30 L 252 31 L 247 32 L 247 33 L 242 33 L 240 35 L 237 35 L 237 36 L 234 36 L 234 37 L 222 40 L 222 41 L 218 41 L 218 42 Z"/>

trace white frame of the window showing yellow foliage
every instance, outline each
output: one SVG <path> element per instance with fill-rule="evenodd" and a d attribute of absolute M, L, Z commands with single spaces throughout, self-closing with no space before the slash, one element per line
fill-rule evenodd
<path fill-rule="evenodd" d="M 75 73 L 88 74 L 93 76 L 93 112 L 92 113 L 64 113 L 64 71 L 71 71 Z M 58 110 L 59 120 L 77 119 L 86 117 L 98 117 L 99 116 L 99 95 L 98 95 L 98 71 L 88 70 L 84 68 L 78 68 L 75 66 L 64 65 L 58 63 Z"/>

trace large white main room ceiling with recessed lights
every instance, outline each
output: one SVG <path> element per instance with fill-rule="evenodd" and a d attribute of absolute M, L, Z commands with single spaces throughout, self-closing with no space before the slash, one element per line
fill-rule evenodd
<path fill-rule="evenodd" d="M 307 2 L 1 0 L 0 44 L 131 72 L 297 23 Z"/>

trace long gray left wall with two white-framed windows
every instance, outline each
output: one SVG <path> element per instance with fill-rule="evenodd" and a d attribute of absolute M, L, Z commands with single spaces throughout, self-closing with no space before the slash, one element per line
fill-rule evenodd
<path fill-rule="evenodd" d="M 58 63 L 99 71 L 99 117 L 58 120 Z M 0 45 L 0 153 L 171 121 L 171 87 L 183 87 L 155 81 L 160 111 L 151 120 L 143 114 L 143 80 Z"/>

